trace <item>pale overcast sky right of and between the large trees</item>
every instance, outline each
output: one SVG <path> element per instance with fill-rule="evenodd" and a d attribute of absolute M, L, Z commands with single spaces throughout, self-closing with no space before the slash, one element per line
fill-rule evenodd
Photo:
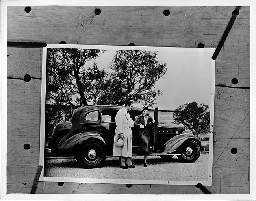
<path fill-rule="evenodd" d="M 155 51 L 156 48 L 150 50 Z M 157 51 L 158 61 L 166 63 L 167 72 L 156 82 L 155 89 L 163 91 L 163 96 L 156 99 L 156 106 L 176 109 L 178 106 L 192 101 L 210 105 L 211 69 L 215 66 L 211 57 L 214 50 L 209 48 L 165 48 L 164 51 L 162 49 Z M 106 66 L 113 58 L 113 54 L 114 50 L 108 50 L 100 55 L 95 61 L 98 63 L 98 67 L 108 71 Z"/>

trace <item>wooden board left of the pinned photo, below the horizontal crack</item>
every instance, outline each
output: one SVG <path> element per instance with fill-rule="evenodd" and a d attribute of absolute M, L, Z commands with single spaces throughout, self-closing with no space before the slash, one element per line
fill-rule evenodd
<path fill-rule="evenodd" d="M 40 99 L 41 80 L 7 79 L 7 192 L 29 193 L 33 185 L 39 166 Z"/>

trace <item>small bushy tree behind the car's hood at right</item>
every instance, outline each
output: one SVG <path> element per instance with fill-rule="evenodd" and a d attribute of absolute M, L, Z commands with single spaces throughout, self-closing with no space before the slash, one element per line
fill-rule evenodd
<path fill-rule="evenodd" d="M 180 105 L 173 112 L 174 124 L 183 124 L 186 128 L 194 130 L 197 136 L 200 132 L 209 132 L 210 127 L 210 109 L 208 105 L 196 102 Z"/>

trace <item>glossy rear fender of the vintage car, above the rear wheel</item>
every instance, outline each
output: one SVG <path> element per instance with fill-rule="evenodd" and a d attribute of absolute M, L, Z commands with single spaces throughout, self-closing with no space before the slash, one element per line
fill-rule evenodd
<path fill-rule="evenodd" d="M 83 133 L 78 133 L 64 142 L 61 142 L 58 144 L 58 150 L 67 150 L 70 148 L 73 148 L 76 144 L 82 144 L 85 140 L 89 139 L 96 139 L 98 141 L 103 142 L 106 145 L 105 140 L 102 138 L 102 135 L 100 133 L 97 133 L 95 131 L 87 131 Z"/>

